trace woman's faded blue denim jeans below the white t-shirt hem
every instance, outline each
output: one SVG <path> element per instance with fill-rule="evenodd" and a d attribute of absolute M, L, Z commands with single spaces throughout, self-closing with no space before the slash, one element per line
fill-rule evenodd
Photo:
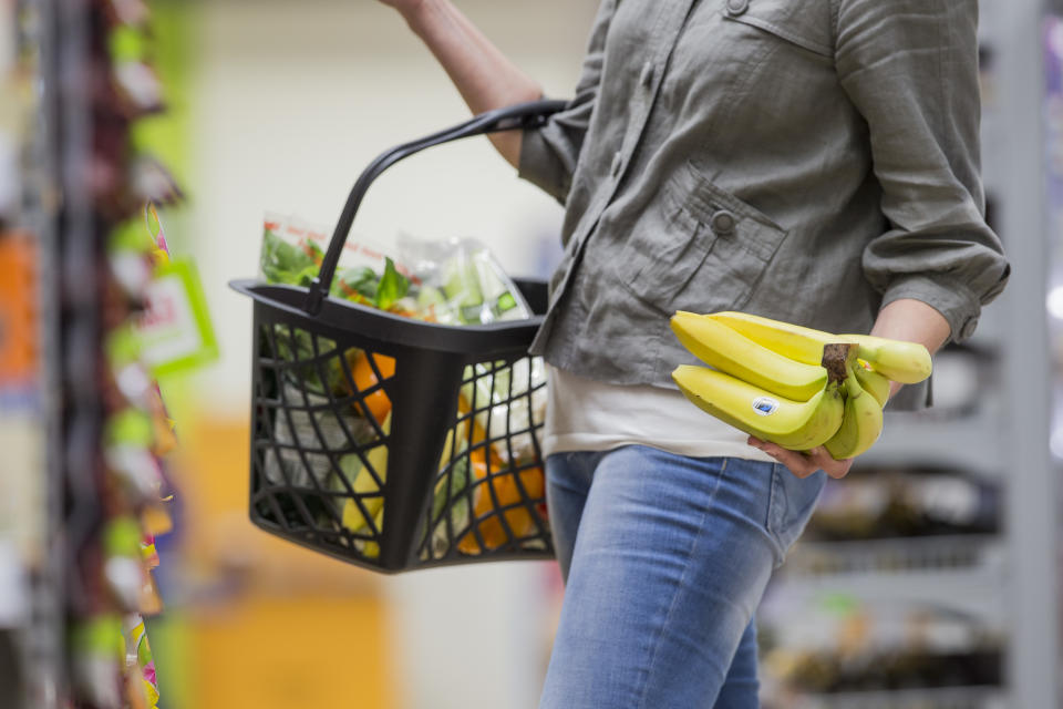
<path fill-rule="evenodd" d="M 566 584 L 540 709 L 757 707 L 753 612 L 823 471 L 629 445 L 546 476 Z"/>

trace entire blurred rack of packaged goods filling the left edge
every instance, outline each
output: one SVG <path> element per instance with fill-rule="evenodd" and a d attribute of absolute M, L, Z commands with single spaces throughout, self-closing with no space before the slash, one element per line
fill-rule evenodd
<path fill-rule="evenodd" d="M 182 192 L 137 130 L 165 109 L 155 37 L 141 0 L 9 8 L 0 549 L 14 551 L 0 554 L 0 617 L 19 579 L 29 600 L 0 621 L 21 634 L 0 706 L 154 708 L 143 617 L 162 609 L 152 569 L 176 444 L 155 379 L 214 353 L 195 270 L 169 257 L 155 213 Z"/>

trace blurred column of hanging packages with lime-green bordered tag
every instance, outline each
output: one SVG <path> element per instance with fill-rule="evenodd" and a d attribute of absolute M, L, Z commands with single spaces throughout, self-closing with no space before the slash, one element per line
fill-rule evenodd
<path fill-rule="evenodd" d="M 148 6 L 60 4 L 63 51 L 45 85 L 55 122 L 86 131 L 61 134 L 68 194 L 49 217 L 62 277 L 47 315 L 73 354 L 54 364 L 70 629 L 58 699 L 149 709 L 158 687 L 143 618 L 162 609 L 152 571 L 155 537 L 173 524 L 166 456 L 177 442 L 156 379 L 208 361 L 215 347 L 195 269 L 169 255 L 155 212 L 182 191 L 141 130 L 166 107 Z"/>

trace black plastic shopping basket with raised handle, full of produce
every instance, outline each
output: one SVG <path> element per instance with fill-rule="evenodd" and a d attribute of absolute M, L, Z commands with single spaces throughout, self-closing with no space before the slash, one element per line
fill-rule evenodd
<path fill-rule="evenodd" d="M 309 288 L 230 284 L 255 301 L 256 525 L 388 573 L 553 556 L 538 439 L 541 362 L 527 353 L 545 285 L 517 284 L 532 319 L 469 327 L 327 295 L 362 197 L 388 167 L 432 145 L 541 125 L 564 106 L 500 109 L 383 153 L 351 189 Z"/>

